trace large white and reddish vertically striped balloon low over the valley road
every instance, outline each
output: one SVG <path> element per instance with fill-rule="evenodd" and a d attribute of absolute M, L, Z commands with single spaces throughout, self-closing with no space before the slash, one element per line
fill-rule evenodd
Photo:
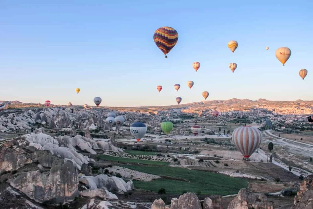
<path fill-rule="evenodd" d="M 249 158 L 261 144 L 262 133 L 252 126 L 241 126 L 234 130 L 232 141 L 244 158 Z"/>

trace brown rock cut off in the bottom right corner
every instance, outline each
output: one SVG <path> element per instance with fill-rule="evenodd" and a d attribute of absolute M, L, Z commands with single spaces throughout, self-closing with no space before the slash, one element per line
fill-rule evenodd
<path fill-rule="evenodd" d="M 294 199 L 292 209 L 312 209 L 313 208 L 313 175 L 308 175 L 302 181 L 300 190 Z"/>

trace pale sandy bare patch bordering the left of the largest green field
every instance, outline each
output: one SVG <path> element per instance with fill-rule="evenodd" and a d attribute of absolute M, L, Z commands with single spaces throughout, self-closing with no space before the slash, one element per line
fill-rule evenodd
<path fill-rule="evenodd" d="M 131 169 L 123 168 L 119 166 L 113 166 L 112 168 L 107 167 L 105 169 L 108 169 L 109 172 L 112 171 L 113 173 L 120 173 L 122 178 L 130 179 L 130 180 L 135 179 L 138 181 L 151 181 L 153 179 L 161 178 L 158 175 L 147 174 L 147 173 L 143 173 L 143 172 L 139 172 L 136 170 L 131 170 Z"/>

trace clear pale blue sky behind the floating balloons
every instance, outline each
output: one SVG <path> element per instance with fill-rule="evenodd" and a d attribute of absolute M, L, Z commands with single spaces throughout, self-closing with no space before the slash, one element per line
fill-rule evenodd
<path fill-rule="evenodd" d="M 208 100 L 313 100 L 313 2 L 274 2 L 2 0 L 0 100 L 158 106 L 203 101 L 203 91 Z M 167 59 L 153 41 L 162 26 L 179 34 Z M 284 67 L 282 46 L 292 51 Z"/>

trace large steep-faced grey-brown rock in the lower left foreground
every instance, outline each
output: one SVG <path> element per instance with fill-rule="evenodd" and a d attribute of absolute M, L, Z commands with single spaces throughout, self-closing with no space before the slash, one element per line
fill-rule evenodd
<path fill-rule="evenodd" d="M 8 183 L 30 199 L 54 204 L 69 202 L 79 196 L 77 171 L 71 161 L 55 159 L 49 171 L 27 171 L 14 175 Z"/>

